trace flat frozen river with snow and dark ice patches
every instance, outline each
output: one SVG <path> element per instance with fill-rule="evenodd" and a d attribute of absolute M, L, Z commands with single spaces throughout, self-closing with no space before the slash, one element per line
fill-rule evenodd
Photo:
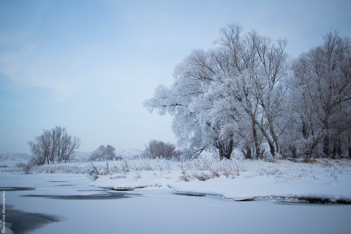
<path fill-rule="evenodd" d="M 82 174 L 0 173 L 0 181 L 13 233 L 351 233 L 350 205 L 224 201 L 165 186 L 117 192 Z"/>

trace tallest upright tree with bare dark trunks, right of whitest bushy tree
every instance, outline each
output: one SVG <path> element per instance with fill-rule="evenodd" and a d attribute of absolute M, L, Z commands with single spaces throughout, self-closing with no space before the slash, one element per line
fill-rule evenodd
<path fill-rule="evenodd" d="M 228 80 L 231 83 L 230 102 L 241 105 L 251 118 L 256 156 L 263 156 L 260 149 L 263 138 L 269 144 L 272 156 L 276 156 L 280 150 L 279 135 L 284 130 L 281 116 L 285 111 L 288 87 L 286 40 L 274 41 L 254 30 L 244 34 L 243 27 L 234 23 L 221 29 L 216 43 L 221 45 L 231 70 L 239 73 L 234 73 Z"/>

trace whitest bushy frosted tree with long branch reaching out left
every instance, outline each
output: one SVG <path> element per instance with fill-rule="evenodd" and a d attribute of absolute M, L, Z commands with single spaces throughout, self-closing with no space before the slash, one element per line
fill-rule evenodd
<path fill-rule="evenodd" d="M 143 105 L 150 112 L 157 110 L 160 115 L 168 113 L 173 116 L 172 129 L 180 144 L 197 152 L 216 147 L 221 157 L 230 158 L 233 138 L 225 139 L 220 135 L 221 122 L 225 120 L 211 113 L 211 100 L 201 101 L 208 107 L 196 104 L 196 98 L 210 89 L 211 82 L 216 79 L 213 71 L 216 63 L 209 53 L 193 50 L 174 69 L 173 84 L 169 87 L 159 85 L 154 96 L 145 100 Z"/>

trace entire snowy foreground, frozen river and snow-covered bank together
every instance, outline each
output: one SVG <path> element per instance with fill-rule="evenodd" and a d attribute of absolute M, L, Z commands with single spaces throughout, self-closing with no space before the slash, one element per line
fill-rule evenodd
<path fill-rule="evenodd" d="M 350 172 L 349 160 L 138 159 L 4 172 L 0 186 L 13 233 L 350 233 L 350 205 L 297 202 L 350 201 Z"/>

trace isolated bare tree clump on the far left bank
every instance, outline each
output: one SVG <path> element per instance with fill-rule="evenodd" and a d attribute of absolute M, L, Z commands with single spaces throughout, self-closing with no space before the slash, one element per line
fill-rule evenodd
<path fill-rule="evenodd" d="M 72 159 L 75 150 L 80 146 L 80 139 L 67 133 L 66 127 L 55 126 L 43 130 L 34 141 L 28 141 L 36 165 L 67 162 Z"/>

